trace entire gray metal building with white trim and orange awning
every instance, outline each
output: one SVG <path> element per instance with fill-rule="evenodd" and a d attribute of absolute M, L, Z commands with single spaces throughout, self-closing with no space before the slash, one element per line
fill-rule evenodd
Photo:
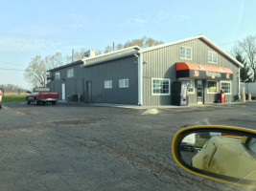
<path fill-rule="evenodd" d="M 240 93 L 240 68 L 234 57 L 204 35 L 151 48 L 137 46 L 95 56 L 49 71 L 48 87 L 59 99 L 133 105 L 174 104 L 174 82 L 185 81 L 189 103 L 225 101 Z M 74 98 L 75 97 L 75 98 Z"/>

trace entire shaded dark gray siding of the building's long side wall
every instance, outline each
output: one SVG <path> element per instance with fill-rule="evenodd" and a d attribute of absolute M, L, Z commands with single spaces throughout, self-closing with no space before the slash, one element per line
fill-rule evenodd
<path fill-rule="evenodd" d="M 67 70 L 74 68 L 74 77 L 67 78 Z M 60 79 L 49 83 L 53 92 L 58 92 L 61 99 L 61 84 L 65 83 L 65 97 L 81 95 L 86 100 L 86 81 L 92 83 L 92 101 L 105 103 L 138 103 L 138 64 L 137 57 L 105 62 L 90 67 L 75 65 L 60 69 L 53 74 L 60 74 Z M 119 79 L 128 79 L 128 88 L 119 88 Z M 105 89 L 105 80 L 112 80 L 112 89 Z"/>

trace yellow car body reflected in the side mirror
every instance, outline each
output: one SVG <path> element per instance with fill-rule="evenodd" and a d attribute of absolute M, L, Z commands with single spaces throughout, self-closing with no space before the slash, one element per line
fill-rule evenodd
<path fill-rule="evenodd" d="M 213 137 L 192 159 L 192 166 L 237 179 L 256 180 L 256 139 Z"/>

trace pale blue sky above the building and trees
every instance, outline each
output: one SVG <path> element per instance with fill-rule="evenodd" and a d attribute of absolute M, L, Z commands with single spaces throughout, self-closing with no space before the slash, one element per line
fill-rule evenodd
<path fill-rule="evenodd" d="M 255 8 L 255 0 L 0 0 L 0 84 L 30 89 L 24 71 L 35 55 L 103 52 L 145 35 L 168 43 L 204 34 L 230 53 L 256 34 Z"/>

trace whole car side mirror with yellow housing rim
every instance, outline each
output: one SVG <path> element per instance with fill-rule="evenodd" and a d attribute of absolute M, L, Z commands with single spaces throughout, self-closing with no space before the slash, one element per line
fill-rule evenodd
<path fill-rule="evenodd" d="M 181 129 L 172 144 L 176 163 L 197 176 L 256 188 L 256 131 L 204 125 Z"/>

